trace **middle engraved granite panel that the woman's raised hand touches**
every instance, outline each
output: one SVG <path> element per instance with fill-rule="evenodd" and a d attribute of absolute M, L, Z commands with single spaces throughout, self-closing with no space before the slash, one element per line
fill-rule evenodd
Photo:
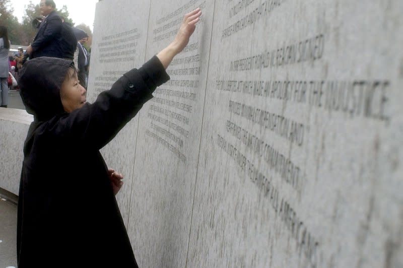
<path fill-rule="evenodd" d="M 140 112 L 128 233 L 144 267 L 186 263 L 214 11 L 211 1 L 151 2 L 147 59 L 196 7 L 205 15 L 167 69 L 171 80 Z"/>

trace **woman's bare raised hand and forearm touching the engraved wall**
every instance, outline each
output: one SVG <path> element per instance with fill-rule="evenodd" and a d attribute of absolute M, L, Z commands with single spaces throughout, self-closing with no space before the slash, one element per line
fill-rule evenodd
<path fill-rule="evenodd" d="M 175 40 L 157 54 L 157 57 L 160 59 L 165 69 L 167 69 L 173 57 L 182 51 L 189 42 L 189 38 L 193 34 L 194 29 L 196 29 L 196 23 L 200 20 L 200 16 L 200 8 L 187 13 L 183 17 L 182 24 L 176 34 Z"/>

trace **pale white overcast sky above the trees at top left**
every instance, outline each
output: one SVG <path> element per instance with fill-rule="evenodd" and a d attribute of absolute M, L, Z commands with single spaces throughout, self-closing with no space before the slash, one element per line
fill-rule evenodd
<path fill-rule="evenodd" d="M 63 5 L 67 6 L 70 18 L 76 25 L 81 23 L 87 24 L 93 30 L 95 17 L 95 4 L 98 0 L 54 0 L 56 8 L 61 9 Z M 22 22 L 25 14 L 25 7 L 29 4 L 29 0 L 12 0 L 11 6 L 14 8 L 14 16 Z M 33 0 L 33 4 L 39 4 L 40 0 Z"/>

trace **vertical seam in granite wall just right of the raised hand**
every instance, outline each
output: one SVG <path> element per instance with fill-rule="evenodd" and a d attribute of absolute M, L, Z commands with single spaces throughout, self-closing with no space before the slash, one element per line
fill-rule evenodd
<path fill-rule="evenodd" d="M 216 1 L 214 1 L 213 18 L 212 18 L 212 24 L 211 24 L 209 61 L 207 62 L 207 77 L 206 77 L 206 84 L 205 84 L 205 100 L 203 102 L 203 115 L 201 116 L 201 129 L 200 129 L 200 140 L 199 140 L 199 144 L 198 144 L 196 178 L 194 180 L 193 204 L 192 204 L 192 213 L 190 215 L 189 240 L 187 241 L 187 253 L 186 253 L 185 268 L 187 268 L 187 259 L 188 259 L 188 256 L 189 256 L 190 237 L 191 237 L 191 233 L 192 233 L 192 222 L 193 222 L 194 199 L 196 199 L 196 186 L 197 186 L 198 165 L 199 165 L 199 160 L 200 160 L 201 135 L 203 135 L 203 124 L 204 124 L 204 119 L 205 119 L 207 85 L 209 83 L 209 66 L 210 66 L 210 56 L 211 56 L 211 45 L 212 45 L 212 41 L 213 41 L 213 29 L 214 29 L 214 15 L 215 15 L 215 12 L 216 12 Z"/>

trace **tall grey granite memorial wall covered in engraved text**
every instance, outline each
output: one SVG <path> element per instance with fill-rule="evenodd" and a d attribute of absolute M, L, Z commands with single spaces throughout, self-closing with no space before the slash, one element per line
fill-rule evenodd
<path fill-rule="evenodd" d="M 196 7 L 171 80 L 102 149 L 139 264 L 402 267 L 403 2 L 103 0 L 89 99 Z"/>

